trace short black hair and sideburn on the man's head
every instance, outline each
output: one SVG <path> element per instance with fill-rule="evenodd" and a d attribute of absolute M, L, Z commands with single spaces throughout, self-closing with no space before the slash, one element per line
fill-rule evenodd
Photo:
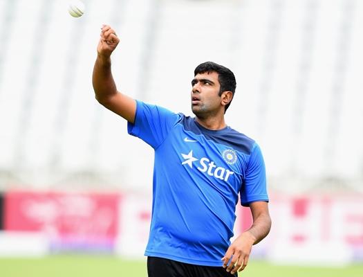
<path fill-rule="evenodd" d="M 236 91 L 236 78 L 234 78 L 234 74 L 227 67 L 216 64 L 215 62 L 203 62 L 196 66 L 194 69 L 194 76 L 201 73 L 218 73 L 218 82 L 221 84 L 221 89 L 219 90 L 219 96 L 222 95 L 223 91 L 232 91 L 232 99 L 234 96 L 234 92 Z M 225 111 L 227 111 L 228 107 L 230 107 L 232 100 L 225 105 Z"/>

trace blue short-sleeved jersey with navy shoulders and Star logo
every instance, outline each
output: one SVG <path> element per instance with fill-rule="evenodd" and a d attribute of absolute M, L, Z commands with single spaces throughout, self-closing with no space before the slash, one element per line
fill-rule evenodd
<path fill-rule="evenodd" d="M 195 118 L 137 101 L 128 132 L 155 150 L 146 256 L 221 266 L 236 204 L 268 201 L 257 143 L 230 127 L 205 129 Z"/>

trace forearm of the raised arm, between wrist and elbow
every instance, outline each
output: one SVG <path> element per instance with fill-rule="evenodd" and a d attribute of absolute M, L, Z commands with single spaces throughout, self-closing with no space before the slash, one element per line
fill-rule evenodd
<path fill-rule="evenodd" d="M 92 84 L 95 98 L 101 103 L 118 92 L 111 72 L 110 57 L 97 55 L 95 66 L 93 67 Z"/>

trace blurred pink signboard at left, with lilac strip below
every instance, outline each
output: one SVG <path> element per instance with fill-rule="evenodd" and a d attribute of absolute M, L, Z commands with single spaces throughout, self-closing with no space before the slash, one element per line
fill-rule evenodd
<path fill-rule="evenodd" d="M 44 233 L 53 251 L 111 251 L 119 199 L 97 193 L 9 192 L 4 229 Z"/>

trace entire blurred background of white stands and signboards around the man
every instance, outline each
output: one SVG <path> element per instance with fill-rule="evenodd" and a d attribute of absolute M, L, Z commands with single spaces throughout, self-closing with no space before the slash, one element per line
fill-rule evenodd
<path fill-rule="evenodd" d="M 66 0 L 0 0 L 2 269 L 59 253 L 146 267 L 153 152 L 91 84 L 110 24 L 121 39 L 113 75 L 133 98 L 191 114 L 196 65 L 234 71 L 227 123 L 263 149 L 273 220 L 246 276 L 261 265 L 358 276 L 344 271 L 353 263 L 362 274 L 363 1 L 84 2 L 76 19 Z M 236 233 L 250 224 L 237 213 Z"/>

